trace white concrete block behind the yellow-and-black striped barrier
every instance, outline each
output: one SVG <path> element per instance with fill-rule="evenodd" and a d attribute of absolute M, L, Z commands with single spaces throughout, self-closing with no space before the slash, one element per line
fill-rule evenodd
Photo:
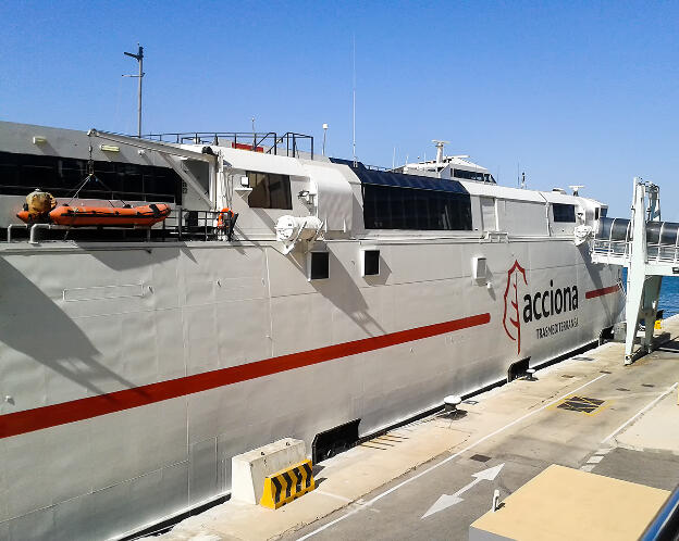
<path fill-rule="evenodd" d="M 231 460 L 231 498 L 258 504 L 268 475 L 285 469 L 306 457 L 305 442 L 293 438 L 284 438 L 234 456 Z"/>

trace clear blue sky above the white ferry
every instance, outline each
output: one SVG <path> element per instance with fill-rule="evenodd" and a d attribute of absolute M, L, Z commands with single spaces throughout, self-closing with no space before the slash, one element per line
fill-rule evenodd
<path fill-rule="evenodd" d="M 632 177 L 679 221 L 677 2 L 0 4 L 0 118 L 136 131 L 298 131 L 391 166 L 450 141 L 516 185 L 581 184 L 627 216 Z"/>

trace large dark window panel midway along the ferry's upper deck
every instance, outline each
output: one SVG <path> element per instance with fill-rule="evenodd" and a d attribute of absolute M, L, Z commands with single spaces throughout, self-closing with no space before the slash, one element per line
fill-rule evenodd
<path fill-rule="evenodd" d="M 468 194 L 363 185 L 367 229 L 471 230 Z"/>

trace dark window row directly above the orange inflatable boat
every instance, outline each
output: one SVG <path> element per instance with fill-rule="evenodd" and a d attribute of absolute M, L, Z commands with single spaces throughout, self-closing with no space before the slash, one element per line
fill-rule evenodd
<path fill-rule="evenodd" d="M 171 168 L 95 162 L 95 175 L 83 199 L 182 202 L 182 179 Z M 87 160 L 0 152 L 0 194 L 26 196 L 35 188 L 58 198 L 72 197 L 87 176 Z"/>

